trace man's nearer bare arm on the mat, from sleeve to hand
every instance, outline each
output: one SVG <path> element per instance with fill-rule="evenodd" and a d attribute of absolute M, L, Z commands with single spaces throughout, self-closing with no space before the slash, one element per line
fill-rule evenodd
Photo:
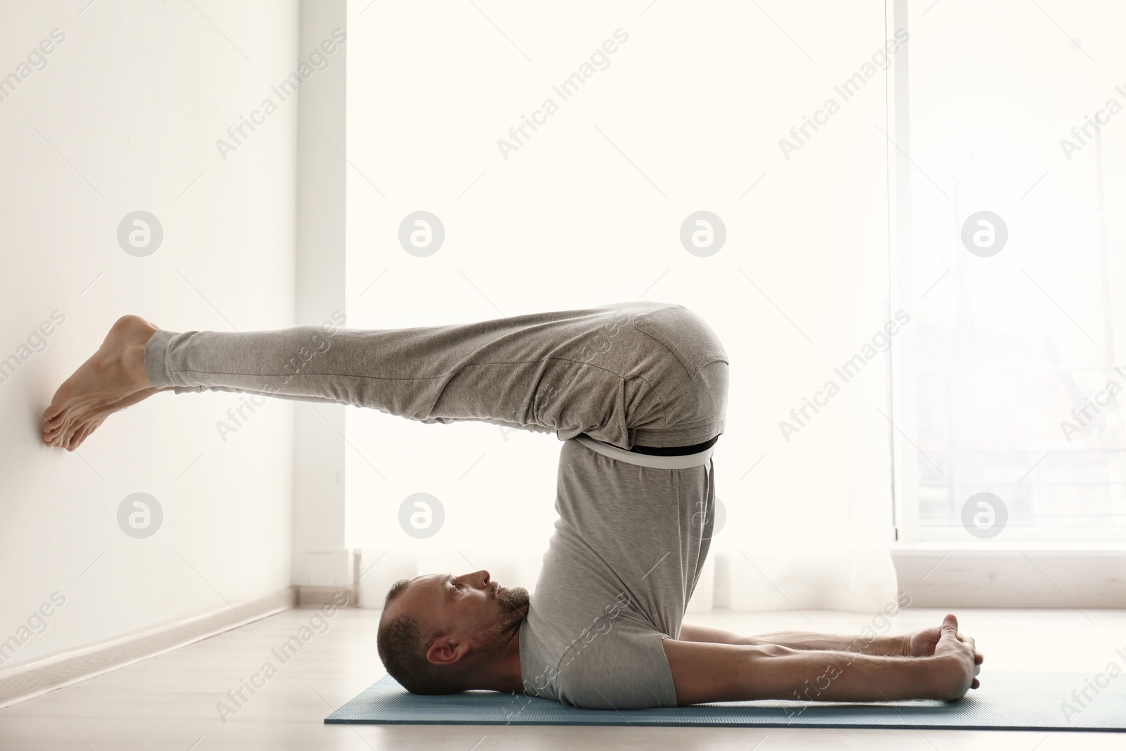
<path fill-rule="evenodd" d="M 794 699 L 801 701 L 954 700 L 976 688 L 981 670 L 973 640 L 956 637 L 957 619 L 942 622 L 935 654 L 903 658 L 663 640 L 677 704 Z"/>

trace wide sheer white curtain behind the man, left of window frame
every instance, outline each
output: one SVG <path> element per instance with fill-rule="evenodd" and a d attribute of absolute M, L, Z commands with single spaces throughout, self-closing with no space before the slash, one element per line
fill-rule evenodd
<path fill-rule="evenodd" d="M 888 305 L 901 46 L 883 3 L 365 6 L 349 11 L 348 325 L 688 306 L 732 374 L 723 518 L 691 608 L 894 600 L 887 347 L 911 323 Z M 419 211 L 441 225 L 432 250 L 426 218 L 427 254 L 400 241 Z M 347 437 L 363 605 L 419 571 L 535 583 L 554 437 L 358 410 Z M 409 534 L 404 504 L 429 531 L 434 499 L 440 527 Z"/>

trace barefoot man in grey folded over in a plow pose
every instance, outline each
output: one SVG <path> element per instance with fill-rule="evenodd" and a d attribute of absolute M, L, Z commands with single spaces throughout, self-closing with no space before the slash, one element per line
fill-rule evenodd
<path fill-rule="evenodd" d="M 625 709 L 956 699 L 976 688 L 982 655 L 954 616 L 869 640 L 681 625 L 712 536 L 727 368 L 712 329 L 667 303 L 394 330 L 177 333 L 125 316 L 55 393 L 44 440 L 73 450 L 108 414 L 167 390 L 554 432 L 558 520 L 534 597 L 486 571 L 418 576 L 387 593 L 379 655 L 414 692 Z"/>

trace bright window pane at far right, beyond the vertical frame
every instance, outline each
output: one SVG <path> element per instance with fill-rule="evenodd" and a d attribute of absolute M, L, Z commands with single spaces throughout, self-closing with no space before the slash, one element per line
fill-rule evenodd
<path fill-rule="evenodd" d="M 899 538 L 1126 540 L 1126 8 L 895 6 Z"/>

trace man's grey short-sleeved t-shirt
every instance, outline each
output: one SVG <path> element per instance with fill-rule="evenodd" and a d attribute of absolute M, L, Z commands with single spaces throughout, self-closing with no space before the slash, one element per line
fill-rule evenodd
<path fill-rule="evenodd" d="M 661 642 L 680 635 L 707 556 L 711 455 L 564 442 L 558 520 L 520 626 L 525 694 L 606 709 L 677 706 Z"/>

